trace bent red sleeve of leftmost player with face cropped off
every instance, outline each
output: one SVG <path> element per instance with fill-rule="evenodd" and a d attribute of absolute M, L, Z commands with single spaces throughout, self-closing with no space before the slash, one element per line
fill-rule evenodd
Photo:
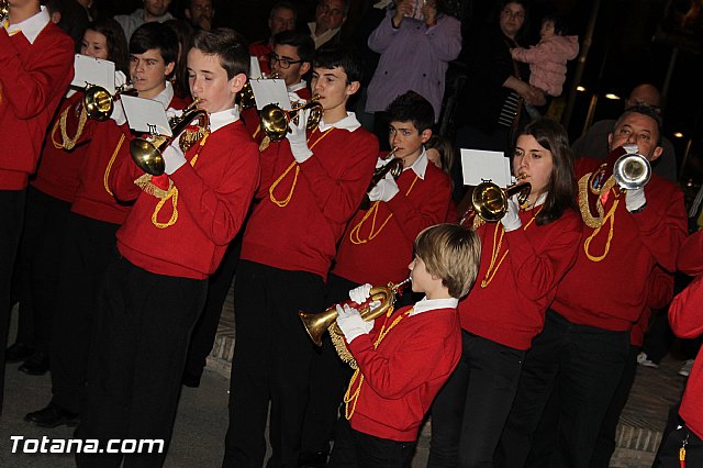
<path fill-rule="evenodd" d="M 48 24 L 40 37 L 51 34 L 52 27 L 56 26 Z M 33 119 L 66 91 L 66 83 L 74 76 L 74 44 L 66 34 L 53 34 L 52 46 L 41 49 L 31 63 L 24 63 L 8 32 L 0 30 L 2 99 L 18 119 Z M 35 45 L 42 45 L 40 37 Z"/>

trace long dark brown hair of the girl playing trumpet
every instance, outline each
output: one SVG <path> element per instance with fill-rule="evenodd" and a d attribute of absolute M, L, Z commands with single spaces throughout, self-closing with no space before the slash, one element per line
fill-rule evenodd
<path fill-rule="evenodd" d="M 573 154 L 569 147 L 569 135 L 565 127 L 549 119 L 529 122 L 517 132 L 511 154 L 515 153 L 517 137 L 532 135 L 539 145 L 551 153 L 551 174 L 547 182 L 547 199 L 535 216 L 537 225 L 549 224 L 558 220 L 567 209 L 576 209 L 576 180 L 573 175 Z"/>

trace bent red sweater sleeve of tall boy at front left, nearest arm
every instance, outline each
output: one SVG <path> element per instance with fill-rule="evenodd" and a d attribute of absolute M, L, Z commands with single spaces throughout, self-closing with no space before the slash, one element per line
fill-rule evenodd
<path fill-rule="evenodd" d="M 248 137 L 243 124 L 234 125 L 242 125 L 241 134 Z M 179 203 L 188 210 L 198 227 L 213 244 L 226 245 L 244 223 L 259 183 L 259 153 L 250 138 L 241 138 L 220 149 L 225 154 L 219 156 L 230 160 L 220 185 L 205 183 L 190 164 L 182 165 L 169 178 L 178 188 Z"/>

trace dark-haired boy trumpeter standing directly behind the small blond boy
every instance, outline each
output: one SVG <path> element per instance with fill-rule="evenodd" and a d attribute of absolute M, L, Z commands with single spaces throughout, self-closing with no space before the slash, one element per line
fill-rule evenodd
<path fill-rule="evenodd" d="M 342 301 L 349 289 L 359 285 L 400 282 L 408 275 L 416 235 L 447 219 L 451 182 L 428 161 L 424 148 L 434 124 L 432 104 L 408 91 L 386 111 L 390 118 L 388 143 L 395 149 L 379 157 L 377 167 L 395 159 L 402 161 L 403 169 L 397 179 L 387 172 L 368 193 L 370 207 L 359 209 L 349 221 L 327 279 L 326 304 Z M 350 374 L 325 335 L 322 349 L 313 358 L 311 402 L 303 432 L 304 459 L 317 457 L 322 461 L 326 457 Z"/>

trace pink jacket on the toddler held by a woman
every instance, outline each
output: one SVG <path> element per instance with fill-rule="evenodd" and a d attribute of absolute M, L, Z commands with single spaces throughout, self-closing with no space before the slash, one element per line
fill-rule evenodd
<path fill-rule="evenodd" d="M 529 64 L 532 86 L 557 97 L 567 79 L 567 62 L 579 54 L 579 37 L 554 35 L 529 48 L 513 48 L 511 54 L 515 60 Z"/>

